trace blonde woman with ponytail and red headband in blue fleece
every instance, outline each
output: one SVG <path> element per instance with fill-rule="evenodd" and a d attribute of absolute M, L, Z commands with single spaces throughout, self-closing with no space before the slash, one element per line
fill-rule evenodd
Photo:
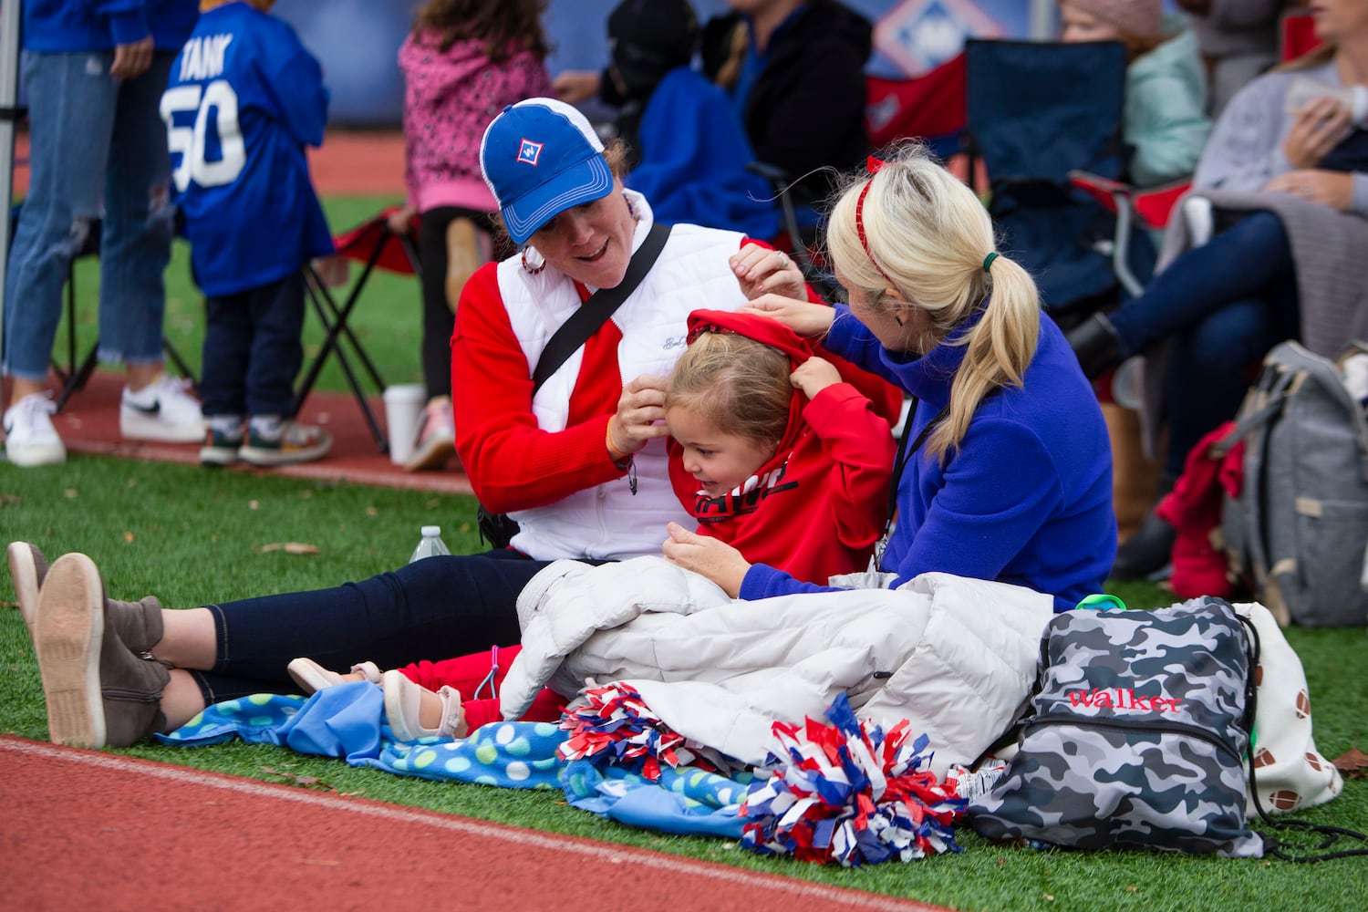
<path fill-rule="evenodd" d="M 906 146 L 845 189 L 826 239 L 847 305 L 770 294 L 746 309 L 914 399 L 877 584 L 937 570 L 1049 593 L 1059 611 L 1101 592 L 1116 552 L 1101 407 L 973 190 Z M 665 555 L 741 599 L 826 588 L 683 528 Z"/>

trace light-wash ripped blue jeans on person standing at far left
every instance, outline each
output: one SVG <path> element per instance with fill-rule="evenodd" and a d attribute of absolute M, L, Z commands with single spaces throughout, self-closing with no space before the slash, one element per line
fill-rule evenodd
<path fill-rule="evenodd" d="M 23 53 L 30 176 L 5 275 L 4 373 L 47 377 L 71 258 L 101 212 L 100 357 L 161 361 L 174 209 L 159 105 L 174 56 L 115 79 L 114 52 Z"/>

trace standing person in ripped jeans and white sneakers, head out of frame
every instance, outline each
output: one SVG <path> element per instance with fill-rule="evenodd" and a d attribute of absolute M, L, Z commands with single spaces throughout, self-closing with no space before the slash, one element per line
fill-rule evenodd
<path fill-rule="evenodd" d="M 119 432 L 190 443 L 200 403 L 163 372 L 163 273 L 174 208 L 157 101 L 171 59 L 198 15 L 196 0 L 25 0 L 29 194 L 10 249 L 4 412 L 14 465 L 64 462 L 52 425 L 48 360 L 71 260 L 100 234 L 101 361 L 127 365 Z"/>

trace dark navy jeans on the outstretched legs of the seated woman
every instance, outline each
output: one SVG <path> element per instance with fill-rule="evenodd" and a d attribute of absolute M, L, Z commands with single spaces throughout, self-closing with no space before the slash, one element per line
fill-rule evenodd
<path fill-rule="evenodd" d="M 512 550 L 435 556 L 331 589 L 211 604 L 218 662 L 190 675 L 212 704 L 298 693 L 285 666 L 300 656 L 346 671 L 517 645 L 517 596 L 546 565 Z"/>

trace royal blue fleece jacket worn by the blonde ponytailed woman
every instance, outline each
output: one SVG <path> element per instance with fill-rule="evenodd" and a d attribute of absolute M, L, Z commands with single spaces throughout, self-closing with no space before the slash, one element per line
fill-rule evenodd
<path fill-rule="evenodd" d="M 951 340 L 921 358 L 888 351 L 844 306 L 824 346 L 919 401 L 906 431 L 914 439 L 949 402 L 964 357 Z M 1116 556 L 1111 444 L 1097 398 L 1048 316 L 1023 380 L 979 403 L 944 465 L 925 448 L 908 459 L 878 567 L 896 574 L 893 587 L 940 570 L 1049 593 L 1056 611 L 1103 591 Z M 757 563 L 740 596 L 828 588 Z"/>

